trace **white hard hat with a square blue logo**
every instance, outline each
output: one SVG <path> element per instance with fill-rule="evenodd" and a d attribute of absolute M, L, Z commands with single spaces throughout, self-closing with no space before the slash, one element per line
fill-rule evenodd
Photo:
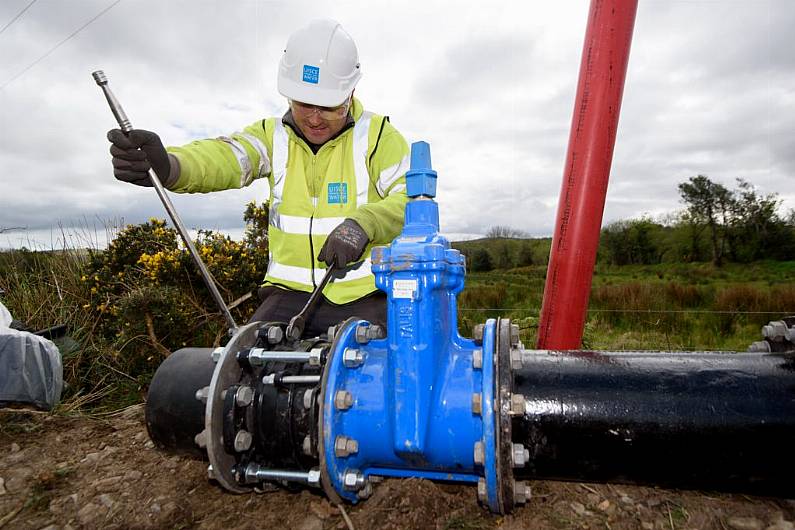
<path fill-rule="evenodd" d="M 335 107 L 362 77 L 356 44 L 339 22 L 313 20 L 290 35 L 279 61 L 279 93 L 286 98 Z"/>

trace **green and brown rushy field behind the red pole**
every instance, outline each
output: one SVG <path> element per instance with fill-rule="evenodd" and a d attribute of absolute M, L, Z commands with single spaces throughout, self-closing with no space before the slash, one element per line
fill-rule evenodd
<path fill-rule="evenodd" d="M 545 265 L 470 273 L 460 297 L 462 330 L 486 318 L 520 323 L 535 344 Z M 795 262 L 598 265 L 584 346 L 594 349 L 734 350 L 760 327 L 795 314 Z"/>

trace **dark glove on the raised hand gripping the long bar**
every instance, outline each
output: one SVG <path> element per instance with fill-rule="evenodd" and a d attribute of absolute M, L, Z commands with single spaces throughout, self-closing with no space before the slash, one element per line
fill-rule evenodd
<path fill-rule="evenodd" d="M 171 175 L 168 153 L 155 133 L 133 129 L 124 134 L 120 129 L 111 129 L 108 140 L 112 144 L 110 154 L 117 179 L 137 186 L 151 186 L 146 172 L 152 169 L 166 188 L 176 183 L 179 175 Z"/>

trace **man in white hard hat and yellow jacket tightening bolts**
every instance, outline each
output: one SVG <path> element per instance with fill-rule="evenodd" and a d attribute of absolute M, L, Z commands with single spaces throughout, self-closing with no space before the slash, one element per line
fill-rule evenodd
<path fill-rule="evenodd" d="M 339 272 L 304 335 L 352 316 L 386 321 L 370 250 L 403 226 L 409 149 L 388 117 L 354 97 L 361 77 L 350 35 L 336 21 L 315 20 L 290 36 L 279 63 L 277 87 L 288 102 L 281 118 L 168 149 L 150 131 L 108 132 L 114 175 L 125 182 L 150 186 L 150 168 L 176 193 L 268 179 L 268 270 L 251 321 L 288 322 L 332 265 Z"/>

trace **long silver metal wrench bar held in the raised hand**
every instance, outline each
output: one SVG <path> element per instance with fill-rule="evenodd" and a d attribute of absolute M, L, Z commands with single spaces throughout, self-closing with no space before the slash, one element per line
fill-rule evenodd
<path fill-rule="evenodd" d="M 119 103 L 119 100 L 116 99 L 116 96 L 113 94 L 113 92 L 111 92 L 110 87 L 108 87 L 108 78 L 105 76 L 105 73 L 102 70 L 97 70 L 96 72 L 93 72 L 91 76 L 105 94 L 105 99 L 108 100 L 108 105 L 110 105 L 110 110 L 113 112 L 113 116 L 116 118 L 119 128 L 121 128 L 122 132 L 125 134 L 132 131 L 133 126 L 130 123 L 130 120 L 127 118 L 127 114 L 125 114 L 124 109 L 121 107 L 121 103 Z M 166 189 L 163 187 L 160 179 L 157 178 L 157 175 L 154 171 L 150 170 L 148 171 L 148 174 L 149 179 L 152 181 L 152 186 L 154 186 L 155 191 L 157 192 L 157 196 L 160 197 L 160 202 L 163 203 L 168 216 L 171 218 L 171 222 L 174 224 L 177 232 L 179 232 L 179 235 L 182 237 L 182 241 L 185 242 L 185 246 L 188 248 L 188 252 L 190 252 L 193 261 L 199 268 L 199 272 L 202 275 L 204 283 L 207 285 L 207 289 L 210 290 L 210 294 L 215 299 L 215 303 L 218 304 L 218 308 L 221 310 L 224 319 L 226 319 L 230 334 L 233 334 L 235 331 L 237 331 L 237 324 L 235 323 L 235 319 L 232 317 L 232 313 L 229 311 L 229 307 L 227 307 L 226 302 L 224 302 L 221 293 L 218 291 L 218 287 L 215 285 L 215 280 L 213 280 L 210 271 L 207 270 L 207 266 L 199 256 L 199 253 L 193 244 L 193 240 L 191 240 L 190 235 L 188 234 L 187 228 L 185 228 L 185 225 L 182 224 L 182 219 L 180 219 L 179 215 L 177 214 L 177 210 L 174 208 L 174 205 L 171 203 L 171 199 L 169 199 L 168 195 L 166 194 Z"/>

